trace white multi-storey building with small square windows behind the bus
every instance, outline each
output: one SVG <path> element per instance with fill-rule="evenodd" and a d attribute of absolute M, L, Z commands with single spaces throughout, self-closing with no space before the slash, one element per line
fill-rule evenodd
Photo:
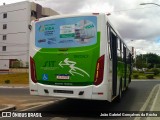
<path fill-rule="evenodd" d="M 24 1 L 0 6 L 0 71 L 28 66 L 28 26 L 34 19 L 57 15 L 50 8 Z"/>

